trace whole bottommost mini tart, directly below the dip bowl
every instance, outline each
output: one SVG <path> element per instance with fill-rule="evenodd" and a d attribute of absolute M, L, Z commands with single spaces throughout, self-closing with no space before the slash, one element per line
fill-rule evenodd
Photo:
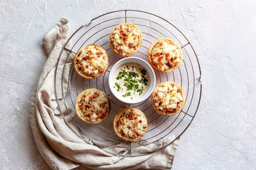
<path fill-rule="evenodd" d="M 120 110 L 114 118 L 115 133 L 123 140 L 135 141 L 147 131 L 147 118 L 137 108 Z"/>

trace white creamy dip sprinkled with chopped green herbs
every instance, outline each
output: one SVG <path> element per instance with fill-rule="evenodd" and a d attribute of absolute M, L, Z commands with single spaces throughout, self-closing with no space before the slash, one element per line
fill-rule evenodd
<path fill-rule="evenodd" d="M 138 99 L 147 91 L 148 73 L 136 63 L 121 65 L 114 73 L 114 88 L 124 99 Z"/>

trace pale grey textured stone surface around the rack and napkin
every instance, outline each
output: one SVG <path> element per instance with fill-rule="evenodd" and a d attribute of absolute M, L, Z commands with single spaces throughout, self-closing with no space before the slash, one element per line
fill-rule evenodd
<path fill-rule="evenodd" d="M 203 94 L 173 170 L 256 169 L 256 3 L 251 0 L 1 0 L 0 169 L 47 170 L 28 121 L 46 61 L 42 37 L 61 17 L 73 31 L 105 12 L 138 9 L 177 26 L 194 46 Z"/>

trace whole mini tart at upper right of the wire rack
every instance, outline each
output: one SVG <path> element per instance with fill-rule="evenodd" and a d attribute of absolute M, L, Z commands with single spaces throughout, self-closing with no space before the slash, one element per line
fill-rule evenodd
<path fill-rule="evenodd" d="M 170 72 L 179 67 L 183 56 L 173 40 L 160 38 L 149 47 L 148 59 L 158 71 Z"/>

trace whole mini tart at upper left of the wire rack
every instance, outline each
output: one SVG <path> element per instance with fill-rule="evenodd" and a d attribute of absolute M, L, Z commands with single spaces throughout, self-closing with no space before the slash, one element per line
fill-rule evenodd
<path fill-rule="evenodd" d="M 76 53 L 74 66 L 79 75 L 84 78 L 99 77 L 108 68 L 108 54 L 100 46 L 88 44 Z"/>

